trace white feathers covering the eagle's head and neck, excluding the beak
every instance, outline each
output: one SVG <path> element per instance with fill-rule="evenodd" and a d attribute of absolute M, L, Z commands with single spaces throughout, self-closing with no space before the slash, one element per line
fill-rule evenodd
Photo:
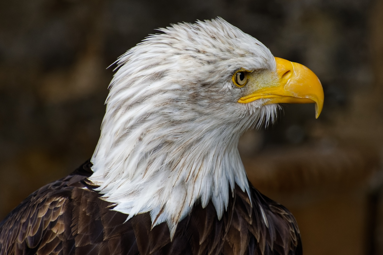
<path fill-rule="evenodd" d="M 117 61 L 89 179 L 113 210 L 128 219 L 150 212 L 152 226 L 167 222 L 173 236 L 196 202 L 211 200 L 221 218 L 236 184 L 249 193 L 238 140 L 277 106 L 238 103 L 231 77 L 276 63 L 221 18 L 159 30 Z"/>

